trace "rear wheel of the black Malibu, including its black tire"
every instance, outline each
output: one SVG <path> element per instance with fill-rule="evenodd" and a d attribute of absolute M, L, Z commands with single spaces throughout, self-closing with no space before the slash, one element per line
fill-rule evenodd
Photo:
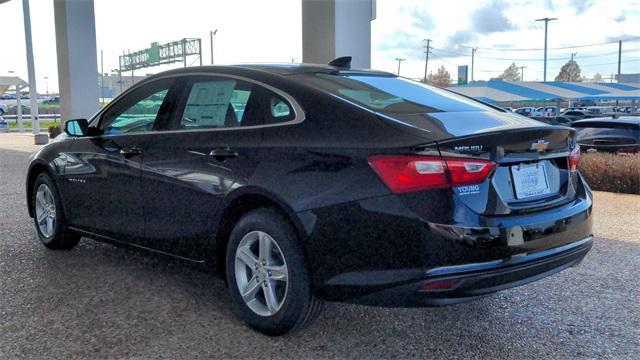
<path fill-rule="evenodd" d="M 264 247 L 270 251 L 262 251 L 263 243 L 270 243 Z M 299 330 L 323 307 L 313 295 L 298 236 L 275 209 L 253 210 L 235 225 L 227 246 L 226 275 L 236 312 L 266 335 Z M 273 295 L 271 302 L 267 293 Z"/>

